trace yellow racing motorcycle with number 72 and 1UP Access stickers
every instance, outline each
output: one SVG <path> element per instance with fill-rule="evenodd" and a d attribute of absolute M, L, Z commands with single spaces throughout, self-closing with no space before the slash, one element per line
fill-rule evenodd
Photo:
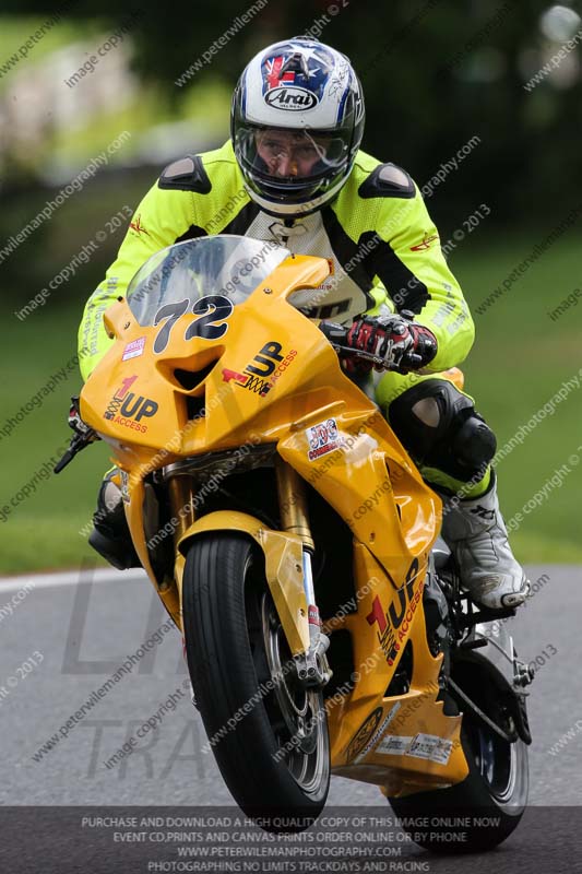
<path fill-rule="evenodd" d="M 111 447 L 135 551 L 248 815 L 306 828 L 333 773 L 376 783 L 423 847 L 488 849 L 527 798 L 514 611 L 462 590 L 440 498 L 344 374 L 341 331 L 294 305 L 329 272 L 230 235 L 155 255 L 104 316 L 111 345 L 57 469 Z M 456 812 L 463 842 L 443 843 Z"/>

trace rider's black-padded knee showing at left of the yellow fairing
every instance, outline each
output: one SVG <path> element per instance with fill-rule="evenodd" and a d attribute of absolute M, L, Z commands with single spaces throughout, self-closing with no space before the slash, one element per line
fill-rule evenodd
<path fill-rule="evenodd" d="M 129 533 L 118 468 L 111 468 L 103 479 L 88 542 L 118 570 L 142 566 Z"/>

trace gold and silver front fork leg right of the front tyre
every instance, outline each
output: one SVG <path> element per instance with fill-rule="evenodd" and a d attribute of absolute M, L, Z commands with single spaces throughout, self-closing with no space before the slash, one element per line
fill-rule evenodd
<path fill-rule="evenodd" d="M 289 534 L 297 534 L 304 543 L 304 588 L 309 623 L 309 649 L 306 652 L 294 656 L 297 676 L 306 687 L 323 688 L 330 682 L 333 672 L 325 656 L 325 651 L 330 646 L 330 638 L 321 630 L 321 619 L 316 603 L 313 574 L 311 570 L 311 555 L 314 552 L 314 543 L 309 527 L 305 485 L 297 471 L 281 457 L 277 457 L 275 462 L 275 475 L 281 525 Z"/>

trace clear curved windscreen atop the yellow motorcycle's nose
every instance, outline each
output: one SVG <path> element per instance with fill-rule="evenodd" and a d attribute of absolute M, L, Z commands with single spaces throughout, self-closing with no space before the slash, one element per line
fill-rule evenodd
<path fill-rule="evenodd" d="M 236 306 L 289 255 L 275 243 L 227 234 L 177 243 L 140 268 L 128 287 L 128 305 L 143 327 L 155 324 L 168 304 L 222 295 Z"/>

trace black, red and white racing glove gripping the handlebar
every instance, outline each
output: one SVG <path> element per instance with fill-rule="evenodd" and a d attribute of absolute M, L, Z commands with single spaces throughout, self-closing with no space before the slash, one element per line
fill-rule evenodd
<path fill-rule="evenodd" d="M 414 318 L 412 312 L 405 315 Z M 432 331 L 396 314 L 357 319 L 347 333 L 347 345 L 354 351 L 382 358 L 382 364 L 375 364 L 377 370 L 399 374 L 419 370 L 437 354 L 437 339 Z M 359 373 L 370 370 L 371 366 L 370 362 L 361 358 L 356 365 Z"/>

